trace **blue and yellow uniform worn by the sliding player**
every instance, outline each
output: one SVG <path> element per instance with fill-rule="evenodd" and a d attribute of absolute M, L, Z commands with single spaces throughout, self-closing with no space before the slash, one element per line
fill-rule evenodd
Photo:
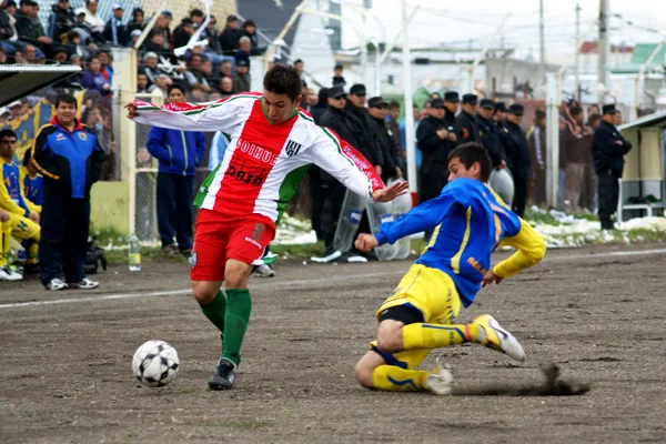
<path fill-rule="evenodd" d="M 414 369 L 431 349 L 475 342 L 480 326 L 456 325 L 454 321 L 461 306 L 474 302 L 497 246 L 516 248 L 512 256 L 492 269 L 498 278 L 535 265 L 546 250 L 541 234 L 514 214 L 490 186 L 474 179 L 453 180 L 437 198 L 382 224 L 376 239 L 381 245 L 432 229 L 427 248 L 376 313 L 381 320 L 387 309 L 403 306 L 411 309 L 420 322 L 403 327 L 403 352 L 384 353 L 376 342 L 371 344 L 387 364 L 375 369 L 375 389 L 422 390 L 427 372 Z"/>

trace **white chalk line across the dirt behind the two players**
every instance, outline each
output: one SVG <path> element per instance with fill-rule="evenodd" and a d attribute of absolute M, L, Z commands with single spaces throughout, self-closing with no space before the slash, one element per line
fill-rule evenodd
<path fill-rule="evenodd" d="M 588 253 L 588 254 L 574 254 L 568 256 L 555 256 L 555 258 L 546 258 L 544 262 L 551 261 L 564 261 L 572 259 L 603 259 L 606 256 L 635 256 L 635 255 L 646 255 L 646 254 L 665 254 L 666 249 L 656 249 L 656 250 L 636 250 L 636 251 L 612 251 L 612 252 L 603 252 L 603 253 Z M 271 287 L 279 286 L 294 286 L 300 284 L 309 284 L 316 282 L 331 282 L 335 280 L 349 281 L 351 279 L 364 279 L 364 278 L 387 278 L 400 275 L 403 271 L 395 271 L 389 273 L 367 273 L 367 274 L 352 274 L 336 278 L 317 278 L 317 279 L 304 279 L 300 281 L 289 281 L 289 282 L 275 282 L 270 285 Z M 266 284 L 253 284 L 253 287 L 261 289 L 262 286 L 269 286 Z M 95 301 L 109 301 L 109 300 L 118 300 L 118 299 L 132 299 L 132 297 L 150 297 L 150 296 L 174 296 L 174 295 L 185 295 L 191 294 L 191 290 L 171 290 L 171 291 L 159 291 L 159 292 L 148 292 L 148 293 L 118 293 L 118 294 L 101 294 L 98 296 L 85 296 L 85 297 L 70 297 L 70 299 L 57 299 L 50 301 L 29 301 L 29 302 L 14 302 L 9 304 L 0 304 L 0 310 L 2 309 L 19 309 L 24 306 L 40 306 L 40 305 L 57 305 L 57 304 L 72 304 L 72 303 L 81 303 L 81 302 L 95 302 Z"/>

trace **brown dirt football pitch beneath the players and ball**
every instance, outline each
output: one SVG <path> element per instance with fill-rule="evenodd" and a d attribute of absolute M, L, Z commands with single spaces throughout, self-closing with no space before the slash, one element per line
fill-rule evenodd
<path fill-rule="evenodd" d="M 665 245 L 551 250 L 535 269 L 482 290 L 461 321 L 493 314 L 527 361 L 478 345 L 443 350 L 456 396 L 355 383 L 374 312 L 410 264 L 280 262 L 276 278 L 253 278 L 228 392 L 208 390 L 219 334 L 189 294 L 188 264 L 111 268 L 87 292 L 0 283 L 0 443 L 666 442 Z M 151 339 L 181 360 L 163 389 L 138 386 L 131 372 Z M 521 393 L 542 384 L 548 364 L 589 392 Z"/>

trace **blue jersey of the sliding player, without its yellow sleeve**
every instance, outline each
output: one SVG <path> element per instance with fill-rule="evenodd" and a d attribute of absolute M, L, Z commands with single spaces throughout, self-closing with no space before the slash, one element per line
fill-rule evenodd
<path fill-rule="evenodd" d="M 435 228 L 416 263 L 448 274 L 467 307 L 491 269 L 491 253 L 503 238 L 518 235 L 523 226 L 522 220 L 485 183 L 458 178 L 444 186 L 437 198 L 382 224 L 376 239 L 380 244 L 393 243 Z M 538 248 L 545 251 L 542 245 L 543 239 Z"/>

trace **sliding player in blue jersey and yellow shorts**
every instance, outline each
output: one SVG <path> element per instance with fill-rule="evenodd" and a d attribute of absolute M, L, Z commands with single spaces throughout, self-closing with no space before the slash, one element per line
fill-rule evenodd
<path fill-rule="evenodd" d="M 356 248 L 370 251 L 434 229 L 421 258 L 376 313 L 377 340 L 356 364 L 362 386 L 447 394 L 452 381 L 447 371 L 415 369 L 433 349 L 466 342 L 525 360 L 518 341 L 491 315 L 454 324 L 461 305 L 468 307 L 482 284 L 498 284 L 538 263 L 546 252 L 543 238 L 486 184 L 491 171 L 483 145 L 463 144 L 448 157 L 450 183 L 438 198 L 383 224 L 376 235 L 359 235 Z M 491 253 L 500 245 L 516 252 L 491 269 Z"/>

